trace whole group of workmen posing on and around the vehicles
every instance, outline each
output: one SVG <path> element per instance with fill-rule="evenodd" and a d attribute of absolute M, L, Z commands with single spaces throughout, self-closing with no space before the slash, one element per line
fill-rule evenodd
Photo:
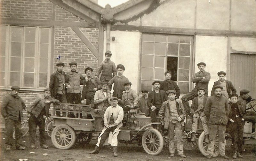
<path fill-rule="evenodd" d="M 117 156 L 117 135 L 123 126 L 122 120 L 124 114 L 130 109 L 137 109 L 137 112 L 150 115 L 151 122 L 157 122 L 156 116 L 159 116 L 160 122 L 164 129 L 168 130 L 169 151 L 171 157 L 174 157 L 174 135 L 177 140 L 177 151 L 181 158 L 186 157 L 183 154 L 182 133 L 184 120 L 187 115 L 193 119 L 192 123 L 192 140 L 196 141 L 196 129 L 198 120 L 201 119 L 205 142 L 208 142 L 207 158 L 212 158 L 214 151 L 215 136 L 219 136 L 219 156 L 229 159 L 225 155 L 225 130 L 228 122 L 232 127 L 232 151 L 233 158 L 242 157 L 242 139 L 244 121 L 248 120 L 253 123 L 255 129 L 255 112 L 246 112 L 246 101 L 250 98 L 249 91 L 243 89 L 240 96 L 236 94 L 236 88 L 231 81 L 225 80 L 226 73 L 218 73 L 219 81 L 214 82 L 211 97 L 208 98 L 208 83 L 211 79 L 210 73 L 205 71 L 206 64 L 200 62 L 197 64 L 199 72 L 193 77 L 195 88 L 180 97 L 180 88 L 171 80 L 172 73 L 164 73 L 165 80 L 154 81 L 153 90 L 142 89 L 142 97 L 139 98 L 136 91 L 131 89 L 132 83 L 123 75 L 124 65 L 115 65 L 110 60 L 112 53 L 105 53 L 106 59 L 102 61 L 92 76 L 92 68 L 87 67 L 84 70 L 85 77 L 79 73 L 76 62 L 69 63 L 70 71 L 64 72 L 64 63 L 58 62 L 57 70 L 50 77 L 49 88 L 44 89 L 44 94 L 37 96 L 32 105 L 28 108 L 28 123 L 30 148 L 35 146 L 36 127 L 39 126 L 40 146 L 48 148 L 45 145 L 45 120 L 43 116 L 48 116 L 50 104 L 69 103 L 81 104 L 86 99 L 86 104 L 91 104 L 95 109 L 102 109 L 104 114 L 104 128 L 99 135 L 98 143 L 90 154 L 98 154 L 101 147 L 109 143 L 113 147 L 113 154 Z M 101 77 L 99 79 L 99 75 Z M 113 96 L 111 97 L 111 88 L 113 87 Z M 83 85 L 83 89 L 81 89 Z M 12 86 L 10 95 L 6 95 L 1 104 L 1 114 L 5 119 L 6 128 L 6 151 L 12 147 L 12 133 L 15 128 L 15 145 L 19 150 L 25 148 L 21 145 L 21 117 L 22 110 L 26 107 L 24 101 L 18 95 L 20 87 Z M 81 93 L 82 90 L 82 93 Z M 188 101 L 192 100 L 191 106 Z M 56 111 L 56 115 L 61 117 L 61 112 Z M 62 112 L 62 117 L 76 117 L 74 113 Z M 82 113 L 80 118 L 83 118 Z M 87 115 L 87 119 L 92 119 Z M 153 124 L 153 128 L 157 128 Z M 164 130 L 163 129 L 163 130 Z"/>

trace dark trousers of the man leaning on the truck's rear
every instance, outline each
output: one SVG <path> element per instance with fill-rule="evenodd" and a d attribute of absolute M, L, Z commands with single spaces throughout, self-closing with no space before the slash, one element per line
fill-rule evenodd
<path fill-rule="evenodd" d="M 40 145 L 45 144 L 45 120 L 43 115 L 38 116 L 37 118 L 34 115 L 30 115 L 28 120 L 29 127 L 29 137 L 30 143 L 36 144 L 36 127 L 39 127 L 39 142 Z"/>

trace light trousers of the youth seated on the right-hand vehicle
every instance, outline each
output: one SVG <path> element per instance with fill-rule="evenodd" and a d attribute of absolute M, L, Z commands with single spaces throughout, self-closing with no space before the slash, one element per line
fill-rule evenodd
<path fill-rule="evenodd" d="M 207 118 L 204 115 L 204 111 L 201 112 L 200 114 L 196 113 L 196 115 L 198 115 L 199 117 L 193 118 L 193 121 L 192 121 L 192 132 L 196 133 L 198 120 L 200 118 L 201 121 L 202 121 L 202 126 L 203 126 L 203 129 L 204 129 L 204 133 L 205 134 L 209 134 L 209 129 L 208 129 L 208 125 L 207 125 Z"/>

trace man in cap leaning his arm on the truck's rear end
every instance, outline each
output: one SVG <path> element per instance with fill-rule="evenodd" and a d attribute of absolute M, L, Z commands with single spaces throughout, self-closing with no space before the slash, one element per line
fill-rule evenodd
<path fill-rule="evenodd" d="M 34 149 L 36 144 L 36 127 L 39 127 L 39 142 L 40 147 L 47 149 L 45 145 L 45 120 L 44 116 L 48 117 L 51 104 L 58 104 L 60 101 L 51 97 L 51 89 L 44 89 L 44 94 L 37 96 L 35 101 L 28 108 L 28 127 L 30 148 Z"/>

